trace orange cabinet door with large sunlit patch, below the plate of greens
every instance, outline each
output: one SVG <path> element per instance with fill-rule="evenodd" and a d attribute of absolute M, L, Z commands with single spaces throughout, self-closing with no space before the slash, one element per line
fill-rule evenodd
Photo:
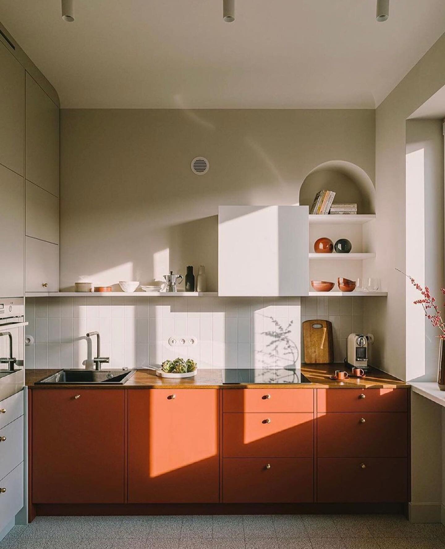
<path fill-rule="evenodd" d="M 219 501 L 218 389 L 129 391 L 129 503 Z"/>

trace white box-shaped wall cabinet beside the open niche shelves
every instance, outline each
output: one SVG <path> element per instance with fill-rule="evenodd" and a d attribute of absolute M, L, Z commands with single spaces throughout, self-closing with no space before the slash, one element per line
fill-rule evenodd
<path fill-rule="evenodd" d="M 219 295 L 308 295 L 308 210 L 308 206 L 220 206 Z"/>

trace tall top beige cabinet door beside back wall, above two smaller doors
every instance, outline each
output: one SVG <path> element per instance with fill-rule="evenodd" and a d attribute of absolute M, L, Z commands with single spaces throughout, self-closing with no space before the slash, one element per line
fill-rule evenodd
<path fill-rule="evenodd" d="M 59 108 L 26 73 L 26 179 L 59 196 Z"/>

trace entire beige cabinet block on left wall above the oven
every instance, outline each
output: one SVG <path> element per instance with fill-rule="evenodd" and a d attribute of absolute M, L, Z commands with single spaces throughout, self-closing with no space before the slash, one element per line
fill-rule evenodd
<path fill-rule="evenodd" d="M 2 35 L 0 217 L 0 296 L 57 292 L 58 97 L 12 37 L 5 40 Z"/>

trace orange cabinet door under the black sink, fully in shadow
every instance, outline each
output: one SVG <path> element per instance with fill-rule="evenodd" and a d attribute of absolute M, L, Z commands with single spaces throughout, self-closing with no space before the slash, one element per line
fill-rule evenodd
<path fill-rule="evenodd" d="M 32 502 L 123 503 L 124 391 L 32 391 Z"/>

